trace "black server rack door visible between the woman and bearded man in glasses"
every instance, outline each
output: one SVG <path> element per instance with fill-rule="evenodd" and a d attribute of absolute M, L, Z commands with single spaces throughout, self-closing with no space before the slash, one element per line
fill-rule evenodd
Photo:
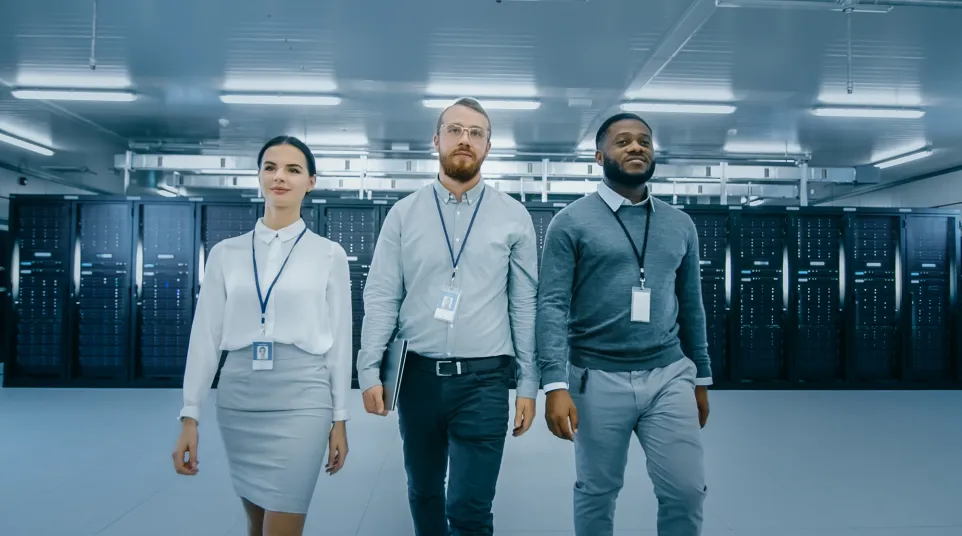
<path fill-rule="evenodd" d="M 357 387 L 357 351 L 361 347 L 361 326 L 364 320 L 364 285 L 374 257 L 381 212 L 386 210 L 386 207 L 353 203 L 347 206 L 326 203 L 321 206 L 324 235 L 344 248 L 351 270 L 351 308 L 354 317 L 354 357 L 351 369 L 353 385 Z"/>

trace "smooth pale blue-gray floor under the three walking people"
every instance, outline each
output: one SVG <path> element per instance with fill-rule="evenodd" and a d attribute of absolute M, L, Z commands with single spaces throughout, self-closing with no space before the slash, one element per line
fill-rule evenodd
<path fill-rule="evenodd" d="M 307 534 L 411 535 L 396 421 L 352 401 L 347 467 L 322 475 Z M 178 409 L 173 390 L 0 389 L 0 534 L 244 536 L 214 423 L 200 475 L 174 474 Z M 705 536 L 962 535 L 962 391 L 715 391 L 704 433 Z M 539 415 L 508 438 L 496 534 L 572 534 L 573 475 Z M 655 536 L 650 490 L 633 445 L 617 534 Z"/>

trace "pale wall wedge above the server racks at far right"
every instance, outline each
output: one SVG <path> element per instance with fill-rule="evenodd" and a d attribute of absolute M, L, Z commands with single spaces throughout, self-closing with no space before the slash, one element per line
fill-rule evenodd
<path fill-rule="evenodd" d="M 962 171 L 836 199 L 825 203 L 824 206 L 958 208 L 962 206 Z"/>

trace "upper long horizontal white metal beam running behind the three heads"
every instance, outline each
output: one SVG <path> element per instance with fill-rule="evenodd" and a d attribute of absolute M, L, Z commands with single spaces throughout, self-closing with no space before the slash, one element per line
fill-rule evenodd
<path fill-rule="evenodd" d="M 208 175 L 221 177 L 245 177 L 257 175 L 257 159 L 244 156 L 218 155 L 163 155 L 163 154 L 119 154 L 114 161 L 117 169 L 131 172 L 159 171 L 181 175 Z M 392 159 L 392 158 L 319 158 L 317 174 L 319 177 L 373 179 L 433 178 L 438 174 L 437 159 Z M 533 184 L 538 179 L 544 182 L 600 180 L 603 171 L 594 161 L 557 162 L 542 160 L 486 160 L 481 167 L 485 177 L 491 179 L 524 178 Z M 655 179 L 696 180 L 720 182 L 723 178 L 729 184 L 739 182 L 798 182 L 802 179 L 801 168 L 792 165 L 766 165 L 747 163 L 706 163 L 706 164 L 664 164 L 655 171 Z M 855 182 L 854 168 L 810 167 L 806 175 L 812 182 Z M 534 179 L 534 180 L 527 180 Z M 364 189 L 367 187 L 365 182 Z"/>

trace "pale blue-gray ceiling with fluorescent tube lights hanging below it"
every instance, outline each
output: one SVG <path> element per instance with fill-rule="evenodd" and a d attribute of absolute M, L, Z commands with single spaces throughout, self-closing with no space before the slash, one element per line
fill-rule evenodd
<path fill-rule="evenodd" d="M 250 154 L 288 133 L 319 147 L 427 149 L 439 110 L 421 99 L 432 95 L 537 98 L 538 110 L 492 112 L 496 146 L 519 152 L 576 152 L 626 98 L 692 99 L 737 111 L 643 114 L 662 152 L 787 149 L 834 167 L 935 149 L 885 170 L 886 180 L 962 165 L 962 9 L 855 14 L 847 95 L 846 16 L 832 11 L 713 0 L 99 0 L 91 70 L 93 0 L 3 4 L 0 131 L 55 155 L 0 144 L 0 161 L 51 173 L 104 173 L 131 142 Z M 10 95 L 82 85 L 126 87 L 138 99 Z M 230 89 L 330 92 L 342 102 L 225 105 L 218 97 Z M 926 114 L 816 117 L 820 103 Z"/>

